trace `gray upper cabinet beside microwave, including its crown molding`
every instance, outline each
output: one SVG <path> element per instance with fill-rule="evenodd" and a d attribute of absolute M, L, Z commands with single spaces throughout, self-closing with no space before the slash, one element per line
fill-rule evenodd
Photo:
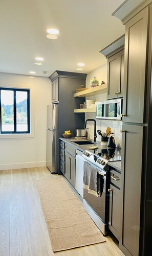
<path fill-rule="evenodd" d="M 124 35 L 100 51 L 107 58 L 107 99 L 123 97 Z"/>

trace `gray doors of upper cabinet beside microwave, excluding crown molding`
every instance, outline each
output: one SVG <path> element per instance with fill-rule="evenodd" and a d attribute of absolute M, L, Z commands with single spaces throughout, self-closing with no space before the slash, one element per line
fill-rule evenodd
<path fill-rule="evenodd" d="M 123 97 L 124 49 L 107 58 L 107 99 Z"/>

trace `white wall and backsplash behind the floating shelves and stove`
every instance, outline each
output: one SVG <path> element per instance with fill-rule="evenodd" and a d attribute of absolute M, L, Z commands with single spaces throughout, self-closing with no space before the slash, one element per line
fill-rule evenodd
<path fill-rule="evenodd" d="M 105 83 L 107 83 L 107 64 L 93 70 L 92 72 L 90 72 L 87 76 L 86 76 L 86 88 L 90 88 L 90 81 L 92 79 L 94 79 L 94 77 L 96 77 L 96 79 L 99 80 L 99 84 L 101 84 L 102 81 L 104 81 Z M 86 97 L 86 100 L 94 100 L 95 101 L 105 101 L 107 100 L 106 98 L 106 93 L 105 94 L 100 94 L 100 95 L 96 95 L 93 97 Z M 96 131 L 97 130 L 101 130 L 102 132 L 106 131 L 107 126 L 112 128 L 112 132 L 114 132 L 114 137 L 115 137 L 115 141 L 116 141 L 116 145 L 119 145 L 119 147 L 121 147 L 121 132 L 120 130 L 122 129 L 122 122 L 121 121 L 111 121 L 111 120 L 100 120 L 100 119 L 96 119 L 96 115 L 95 113 L 86 113 L 85 114 L 85 120 L 86 119 L 95 119 L 96 120 Z M 91 139 L 94 138 L 94 124 L 93 122 L 89 122 L 87 124 L 87 127 L 89 127 L 88 133 Z M 101 136 L 97 135 L 97 141 L 101 141 Z"/>

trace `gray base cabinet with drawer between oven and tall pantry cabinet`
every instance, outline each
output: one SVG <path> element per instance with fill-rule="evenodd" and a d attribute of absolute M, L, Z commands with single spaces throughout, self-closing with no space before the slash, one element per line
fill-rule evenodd
<path fill-rule="evenodd" d="M 120 180 L 121 173 L 118 170 L 110 171 L 110 202 L 108 228 L 119 240 L 120 236 Z"/>

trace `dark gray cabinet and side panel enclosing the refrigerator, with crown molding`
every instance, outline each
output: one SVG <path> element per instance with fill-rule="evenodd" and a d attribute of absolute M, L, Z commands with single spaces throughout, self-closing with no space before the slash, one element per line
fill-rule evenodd
<path fill-rule="evenodd" d="M 52 103 L 59 104 L 59 137 L 66 130 L 75 134 L 76 129 L 84 129 L 84 113 L 74 114 L 74 109 L 85 98 L 75 98 L 74 93 L 80 85 L 85 86 L 86 74 L 79 74 L 66 71 L 55 71 L 50 77 L 52 81 Z"/>

